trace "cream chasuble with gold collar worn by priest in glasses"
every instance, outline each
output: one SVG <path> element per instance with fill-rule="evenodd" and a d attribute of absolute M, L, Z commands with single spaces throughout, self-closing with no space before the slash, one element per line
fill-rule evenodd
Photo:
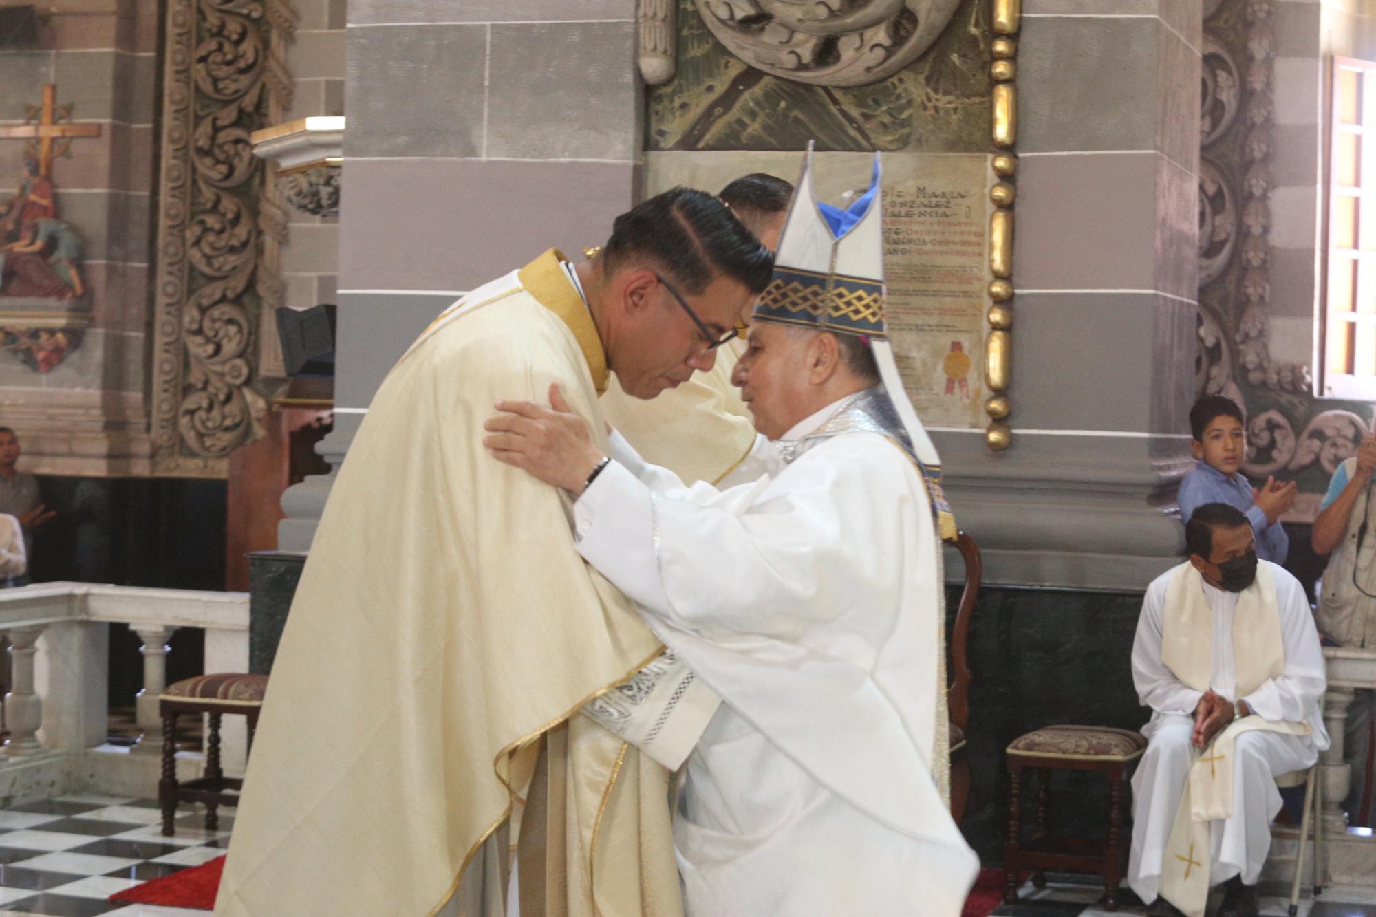
<path fill-rule="evenodd" d="M 578 556 L 560 492 L 482 446 L 498 398 L 555 381 L 601 438 L 605 362 L 560 260 L 461 299 L 378 388 L 282 636 L 216 914 L 495 917 L 508 839 L 527 917 L 681 914 L 667 771 L 571 717 L 660 643 Z"/>

